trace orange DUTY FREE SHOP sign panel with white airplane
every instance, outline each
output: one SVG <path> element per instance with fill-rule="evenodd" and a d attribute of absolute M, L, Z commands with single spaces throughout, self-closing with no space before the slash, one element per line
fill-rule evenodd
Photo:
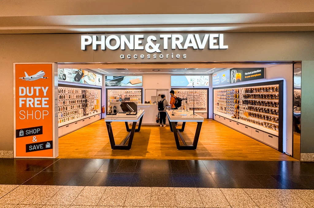
<path fill-rule="evenodd" d="M 14 65 L 15 157 L 54 157 L 52 143 L 57 136 L 54 65 Z"/>

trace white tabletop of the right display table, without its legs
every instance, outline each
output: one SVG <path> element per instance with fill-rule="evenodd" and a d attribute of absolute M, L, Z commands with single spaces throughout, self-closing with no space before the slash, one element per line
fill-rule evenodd
<path fill-rule="evenodd" d="M 170 122 L 203 122 L 204 118 L 195 114 L 193 111 L 166 110 Z M 172 115 L 174 114 L 174 115 Z"/>

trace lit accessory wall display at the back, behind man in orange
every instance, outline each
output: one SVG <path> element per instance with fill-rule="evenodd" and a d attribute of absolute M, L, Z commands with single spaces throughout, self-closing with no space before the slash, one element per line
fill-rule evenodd
<path fill-rule="evenodd" d="M 187 108 L 190 111 L 193 110 L 193 97 L 194 97 L 195 112 L 199 112 L 199 113 L 207 112 L 207 97 L 208 97 L 207 90 L 178 89 L 178 88 L 175 88 L 172 90 L 175 91 L 175 96 L 180 97 L 182 99 L 182 106 L 184 108 Z"/>

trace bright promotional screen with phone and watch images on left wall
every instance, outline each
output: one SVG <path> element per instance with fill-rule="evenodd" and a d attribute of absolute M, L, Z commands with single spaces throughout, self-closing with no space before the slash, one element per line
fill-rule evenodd
<path fill-rule="evenodd" d="M 82 69 L 58 69 L 58 80 L 102 86 L 102 75 Z"/>

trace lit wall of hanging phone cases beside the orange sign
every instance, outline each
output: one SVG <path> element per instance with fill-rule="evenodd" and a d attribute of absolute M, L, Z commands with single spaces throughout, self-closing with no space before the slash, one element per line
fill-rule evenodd
<path fill-rule="evenodd" d="M 58 87 L 58 125 L 100 113 L 100 90 Z"/>

